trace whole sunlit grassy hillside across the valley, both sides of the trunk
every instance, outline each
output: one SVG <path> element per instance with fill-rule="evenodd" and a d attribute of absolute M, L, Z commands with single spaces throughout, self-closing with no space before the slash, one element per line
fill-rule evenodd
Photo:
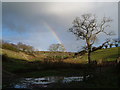
<path fill-rule="evenodd" d="M 91 54 L 92 60 L 96 61 L 113 61 L 116 60 L 119 56 L 120 47 L 101 49 L 93 52 Z M 48 51 L 39 51 L 34 56 L 25 54 L 23 52 L 14 52 L 7 49 L 2 49 L 2 55 L 6 55 L 9 58 L 21 59 L 26 61 L 43 61 L 45 59 L 63 59 L 64 62 L 69 63 L 86 63 L 87 54 L 83 56 L 77 56 L 73 58 L 74 53 L 70 52 L 48 52 Z"/>

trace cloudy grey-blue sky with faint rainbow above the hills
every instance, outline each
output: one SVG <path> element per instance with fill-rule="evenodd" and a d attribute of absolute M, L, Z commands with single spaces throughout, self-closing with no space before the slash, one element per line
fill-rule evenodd
<path fill-rule="evenodd" d="M 2 39 L 23 42 L 41 51 L 57 43 L 63 44 L 69 52 L 78 51 L 85 42 L 76 40 L 68 30 L 73 20 L 85 13 L 95 14 L 98 21 L 104 16 L 113 20 L 106 29 L 116 35 L 100 34 L 95 46 L 106 38 L 118 38 L 117 2 L 3 2 Z"/>

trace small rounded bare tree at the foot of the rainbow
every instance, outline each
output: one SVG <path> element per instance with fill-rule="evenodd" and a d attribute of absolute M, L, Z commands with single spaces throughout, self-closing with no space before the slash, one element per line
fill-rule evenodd
<path fill-rule="evenodd" d="M 49 46 L 49 51 L 66 51 L 65 47 L 62 44 L 52 44 Z"/>

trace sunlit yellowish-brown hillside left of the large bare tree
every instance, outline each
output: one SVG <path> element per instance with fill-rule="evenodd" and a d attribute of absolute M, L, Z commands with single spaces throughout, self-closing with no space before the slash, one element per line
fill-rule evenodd
<path fill-rule="evenodd" d="M 49 52 L 49 51 L 39 51 L 35 52 L 34 56 L 26 54 L 24 52 L 15 52 L 12 50 L 7 50 L 7 49 L 1 49 L 0 54 L 5 55 L 9 58 L 13 59 L 21 59 L 21 60 L 26 60 L 26 61 L 36 61 L 36 60 L 44 60 L 46 58 L 66 58 L 66 57 L 71 57 L 74 55 L 74 53 L 71 52 Z"/>

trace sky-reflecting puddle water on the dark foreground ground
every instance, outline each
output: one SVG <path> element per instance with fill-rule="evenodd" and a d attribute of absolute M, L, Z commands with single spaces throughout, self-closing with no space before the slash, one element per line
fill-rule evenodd
<path fill-rule="evenodd" d="M 85 76 L 89 78 L 90 75 Z M 83 76 L 77 77 L 60 77 L 60 76 L 49 76 L 41 78 L 19 78 L 14 80 L 8 87 L 9 88 L 40 88 L 49 87 L 55 83 L 70 83 L 70 82 L 81 82 L 84 80 Z"/>

